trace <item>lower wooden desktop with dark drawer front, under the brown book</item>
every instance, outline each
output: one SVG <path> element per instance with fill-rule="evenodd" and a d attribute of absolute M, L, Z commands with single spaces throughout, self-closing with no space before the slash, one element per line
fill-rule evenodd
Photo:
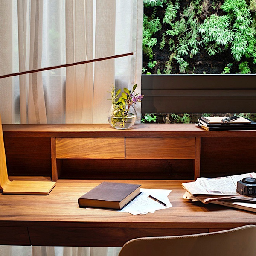
<path fill-rule="evenodd" d="M 142 236 L 168 236 L 256 224 L 256 214 L 182 199 L 181 181 L 116 180 L 142 188 L 171 189 L 171 208 L 133 216 L 79 208 L 78 198 L 102 180 L 58 180 L 49 195 L 0 195 L 0 243 L 55 246 L 122 246 Z M 14 235 L 13 233 L 18 235 Z"/>

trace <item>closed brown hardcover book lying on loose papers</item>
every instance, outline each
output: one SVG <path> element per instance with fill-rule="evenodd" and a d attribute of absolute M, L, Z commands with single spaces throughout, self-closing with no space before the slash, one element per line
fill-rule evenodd
<path fill-rule="evenodd" d="M 78 199 L 79 207 L 120 210 L 140 194 L 137 184 L 102 182 Z"/>

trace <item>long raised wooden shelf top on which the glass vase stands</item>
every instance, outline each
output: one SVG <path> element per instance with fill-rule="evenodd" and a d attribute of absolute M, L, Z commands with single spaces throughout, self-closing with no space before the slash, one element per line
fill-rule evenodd
<path fill-rule="evenodd" d="M 137 124 L 127 130 L 108 124 L 6 124 L 3 131 L 12 137 L 256 137 L 256 130 L 206 131 L 195 124 Z"/>

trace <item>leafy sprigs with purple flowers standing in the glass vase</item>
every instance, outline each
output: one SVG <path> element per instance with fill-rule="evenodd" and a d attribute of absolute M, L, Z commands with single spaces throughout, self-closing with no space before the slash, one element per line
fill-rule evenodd
<path fill-rule="evenodd" d="M 140 102 L 144 95 L 140 95 L 139 93 L 135 93 L 134 91 L 137 88 L 137 84 L 135 84 L 132 90 L 128 90 L 127 88 L 122 90 L 115 90 L 115 86 L 111 87 L 111 101 L 112 101 L 112 112 L 111 112 L 111 124 L 115 127 L 117 124 L 121 126 L 121 128 L 125 128 L 125 123 L 128 122 L 129 116 L 131 116 L 130 108 L 133 104 Z"/>

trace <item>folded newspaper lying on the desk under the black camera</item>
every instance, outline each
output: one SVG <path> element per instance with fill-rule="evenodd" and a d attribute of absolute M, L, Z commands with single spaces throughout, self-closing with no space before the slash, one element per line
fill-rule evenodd
<path fill-rule="evenodd" d="M 239 180 L 246 177 L 256 178 L 256 173 L 245 173 L 219 178 L 198 178 L 196 181 L 182 183 L 186 193 L 183 198 L 208 204 L 215 200 L 229 200 L 256 203 L 255 197 L 240 195 L 236 192 Z"/>

